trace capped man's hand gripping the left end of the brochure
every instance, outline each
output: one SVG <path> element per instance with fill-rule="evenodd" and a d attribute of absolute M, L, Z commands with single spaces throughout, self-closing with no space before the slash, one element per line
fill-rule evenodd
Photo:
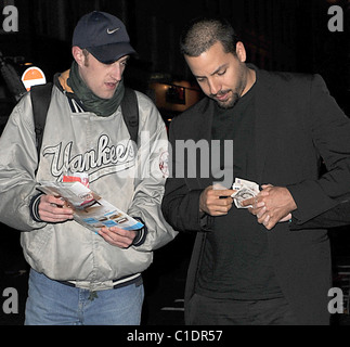
<path fill-rule="evenodd" d="M 67 203 L 53 195 L 41 195 L 38 205 L 40 219 L 48 223 L 59 223 L 73 219 L 73 209 Z"/>

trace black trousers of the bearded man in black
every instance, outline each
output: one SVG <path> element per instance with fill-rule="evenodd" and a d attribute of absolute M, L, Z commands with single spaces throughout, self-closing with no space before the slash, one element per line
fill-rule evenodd
<path fill-rule="evenodd" d="M 189 301 L 187 325 L 297 325 L 285 298 L 216 299 L 198 294 Z"/>

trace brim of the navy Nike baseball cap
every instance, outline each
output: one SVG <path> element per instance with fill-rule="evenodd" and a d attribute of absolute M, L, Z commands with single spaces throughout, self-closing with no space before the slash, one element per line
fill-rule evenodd
<path fill-rule="evenodd" d="M 103 64 L 112 64 L 125 55 L 137 54 L 129 42 L 87 47 L 87 50 Z"/>

